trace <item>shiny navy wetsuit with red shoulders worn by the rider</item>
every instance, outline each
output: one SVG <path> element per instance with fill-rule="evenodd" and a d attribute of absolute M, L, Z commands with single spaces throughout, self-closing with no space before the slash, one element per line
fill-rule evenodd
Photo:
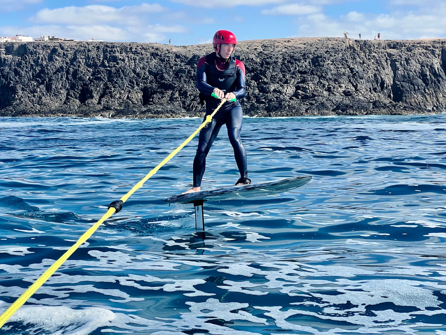
<path fill-rule="evenodd" d="M 229 141 L 234 148 L 235 162 L 239 168 L 240 176 L 248 177 L 246 151 L 240 140 L 240 130 L 242 129 L 243 125 L 243 112 L 239 99 L 244 98 L 246 93 L 244 64 L 235 59 L 231 59 L 231 62 L 224 63 L 221 58 L 215 55 L 215 53 L 201 58 L 198 61 L 197 66 L 197 88 L 206 100 L 206 119 L 206 116 L 214 112 L 215 108 L 217 108 L 221 102 L 220 99 L 211 97 L 211 93 L 214 91 L 214 88 L 227 88 L 223 84 L 216 84 L 219 82 L 219 78 L 211 78 L 210 75 L 215 76 L 216 73 L 218 74 L 218 71 L 222 71 L 223 74 L 228 67 L 232 66 L 231 64 L 234 64 L 234 62 L 235 80 L 233 80 L 230 89 L 223 92 L 233 92 L 237 100 L 226 101 L 223 106 L 220 107 L 214 117 L 212 117 L 212 121 L 200 131 L 197 153 L 194 158 L 194 187 L 199 187 L 201 185 L 201 180 L 206 168 L 206 156 L 209 153 L 212 143 L 217 137 L 223 124 L 226 124 Z M 222 81 L 222 79 L 219 80 Z M 211 86 L 208 84 L 208 82 L 216 85 Z"/>

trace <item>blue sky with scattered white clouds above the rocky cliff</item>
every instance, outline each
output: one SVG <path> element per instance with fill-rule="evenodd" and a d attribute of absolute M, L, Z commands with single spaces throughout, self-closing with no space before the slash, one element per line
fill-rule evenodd
<path fill-rule="evenodd" d="M 218 29 L 238 40 L 446 38 L 445 0 L 0 0 L 0 36 L 56 35 L 190 45 Z"/>

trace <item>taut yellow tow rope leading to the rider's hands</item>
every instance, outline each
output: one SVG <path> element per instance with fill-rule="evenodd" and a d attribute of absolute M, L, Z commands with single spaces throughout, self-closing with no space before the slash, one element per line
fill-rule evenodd
<path fill-rule="evenodd" d="M 137 183 L 133 188 L 128 191 L 124 197 L 122 197 L 120 200 L 122 202 L 125 202 L 138 188 L 140 188 L 151 176 L 153 176 L 157 171 L 162 167 L 165 163 L 167 163 L 170 159 L 173 158 L 174 155 L 178 154 L 178 151 L 180 151 L 184 146 L 186 146 L 187 143 L 189 143 L 192 138 L 195 137 L 196 134 L 204 127 L 206 124 L 211 122 L 212 117 L 217 113 L 217 111 L 220 109 L 220 107 L 225 103 L 226 99 L 223 99 L 220 102 L 220 105 L 215 109 L 215 111 L 211 115 L 206 116 L 206 120 L 201 124 L 201 126 L 198 127 L 197 130 L 194 131 L 192 135 L 190 135 L 186 141 L 184 141 L 178 148 L 176 148 L 172 153 L 167 156 L 161 163 L 159 163 L 155 168 L 153 168 L 142 180 L 140 180 L 139 183 Z M 8 322 L 9 318 L 12 317 L 12 315 L 31 297 L 39 287 L 41 287 L 45 281 L 50 278 L 56 272 L 56 270 L 65 262 L 68 257 L 70 257 L 74 251 L 87 239 L 91 237 L 91 235 L 98 229 L 98 227 L 105 221 L 107 218 L 110 218 L 112 214 L 114 214 L 116 211 L 115 208 L 110 207 L 107 210 L 107 213 L 103 215 L 103 217 L 96 222 L 93 226 L 91 226 L 70 249 L 68 249 L 58 260 L 54 262 L 53 265 L 50 266 L 38 279 L 33 283 L 33 285 L 29 286 L 29 288 L 22 293 L 20 297 L 17 298 L 15 302 L 12 303 L 11 306 L 8 307 L 7 310 L 4 311 L 3 314 L 0 316 L 0 328 L 3 327 L 3 325 Z"/>

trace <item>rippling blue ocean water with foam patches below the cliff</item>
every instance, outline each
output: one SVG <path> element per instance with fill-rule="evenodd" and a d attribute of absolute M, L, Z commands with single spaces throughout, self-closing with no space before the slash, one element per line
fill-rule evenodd
<path fill-rule="evenodd" d="M 201 119 L 0 118 L 0 311 Z M 2 327 L 8 335 L 445 335 L 445 115 L 245 118 L 253 182 L 191 205 L 197 138 Z M 202 188 L 238 179 L 223 127 Z"/>

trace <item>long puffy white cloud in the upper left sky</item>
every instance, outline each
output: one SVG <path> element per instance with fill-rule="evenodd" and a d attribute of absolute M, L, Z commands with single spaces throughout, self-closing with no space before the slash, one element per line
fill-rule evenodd
<path fill-rule="evenodd" d="M 98 4 L 84 7 L 45 8 L 39 10 L 31 20 L 43 23 L 75 25 L 93 25 L 107 22 L 140 25 L 146 20 L 145 15 L 147 13 L 162 12 L 166 9 L 159 4 L 145 3 L 138 6 L 124 6 L 121 8 Z"/>

